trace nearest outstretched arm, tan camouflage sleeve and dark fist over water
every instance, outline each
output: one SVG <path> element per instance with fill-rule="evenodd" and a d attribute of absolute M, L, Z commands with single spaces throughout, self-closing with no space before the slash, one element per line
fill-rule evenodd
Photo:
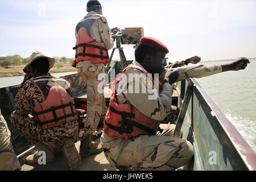
<path fill-rule="evenodd" d="M 172 77 L 172 74 L 170 72 L 177 71 L 178 76 L 176 81 L 174 79 L 172 80 L 172 83 L 178 82 L 181 80 L 184 80 L 187 77 L 193 77 L 193 78 L 201 78 L 201 77 L 207 77 L 211 75 L 215 75 L 217 73 L 226 72 L 226 71 L 239 71 L 241 69 L 245 69 L 247 67 L 247 64 L 249 64 L 250 61 L 246 57 L 238 58 L 233 63 L 228 64 L 222 64 L 222 65 L 199 65 L 196 67 L 179 67 L 179 68 L 169 68 L 167 72 L 169 72 L 170 77 Z"/>

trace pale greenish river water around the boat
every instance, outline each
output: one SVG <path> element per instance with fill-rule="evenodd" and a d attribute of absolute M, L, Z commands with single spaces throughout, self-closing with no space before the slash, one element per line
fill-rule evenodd
<path fill-rule="evenodd" d="M 242 137 L 256 151 L 256 60 L 243 71 L 225 72 L 210 77 L 196 79 L 226 117 L 240 131 Z M 228 61 L 204 62 L 201 64 L 225 64 Z M 64 76 L 76 72 L 53 73 Z M 23 76 L 0 77 L 0 88 L 18 85 Z"/>

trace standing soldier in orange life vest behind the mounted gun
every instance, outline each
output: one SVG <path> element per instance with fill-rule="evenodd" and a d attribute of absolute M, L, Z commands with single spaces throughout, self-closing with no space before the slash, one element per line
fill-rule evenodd
<path fill-rule="evenodd" d="M 101 152 L 100 148 L 91 143 L 93 132 L 97 129 L 100 119 L 106 114 L 106 103 L 103 93 L 98 93 L 97 79 L 105 73 L 105 65 L 109 63 L 108 50 L 113 47 L 114 36 L 110 36 L 108 22 L 102 16 L 101 3 L 90 0 L 87 3 L 88 14 L 76 26 L 76 60 L 73 67 L 84 79 L 87 87 L 87 114 L 85 133 L 81 139 L 80 155 L 85 158 Z"/>

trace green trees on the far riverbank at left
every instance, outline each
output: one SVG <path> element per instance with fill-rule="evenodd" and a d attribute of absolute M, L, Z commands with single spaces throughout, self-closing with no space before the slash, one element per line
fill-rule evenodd
<path fill-rule="evenodd" d="M 58 67 L 63 66 L 63 64 L 72 64 L 73 60 L 75 60 L 74 58 L 67 58 L 65 56 L 54 58 Z M 20 55 L 0 57 L 0 67 L 10 68 L 11 65 L 24 65 L 28 63 L 28 60 L 29 57 L 23 58 Z"/>

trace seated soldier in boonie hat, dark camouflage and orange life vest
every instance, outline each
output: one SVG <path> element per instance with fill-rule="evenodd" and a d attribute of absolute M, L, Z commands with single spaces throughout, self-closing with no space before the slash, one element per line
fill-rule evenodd
<path fill-rule="evenodd" d="M 46 164 L 52 163 L 54 152 L 63 150 L 69 168 L 79 170 L 81 158 L 75 147 L 79 126 L 72 90 L 67 80 L 48 73 L 54 63 L 43 52 L 32 53 L 23 69 L 28 75 L 16 94 L 11 122 L 38 150 L 26 158 L 27 163 L 38 163 L 39 151 L 45 152 Z"/>

